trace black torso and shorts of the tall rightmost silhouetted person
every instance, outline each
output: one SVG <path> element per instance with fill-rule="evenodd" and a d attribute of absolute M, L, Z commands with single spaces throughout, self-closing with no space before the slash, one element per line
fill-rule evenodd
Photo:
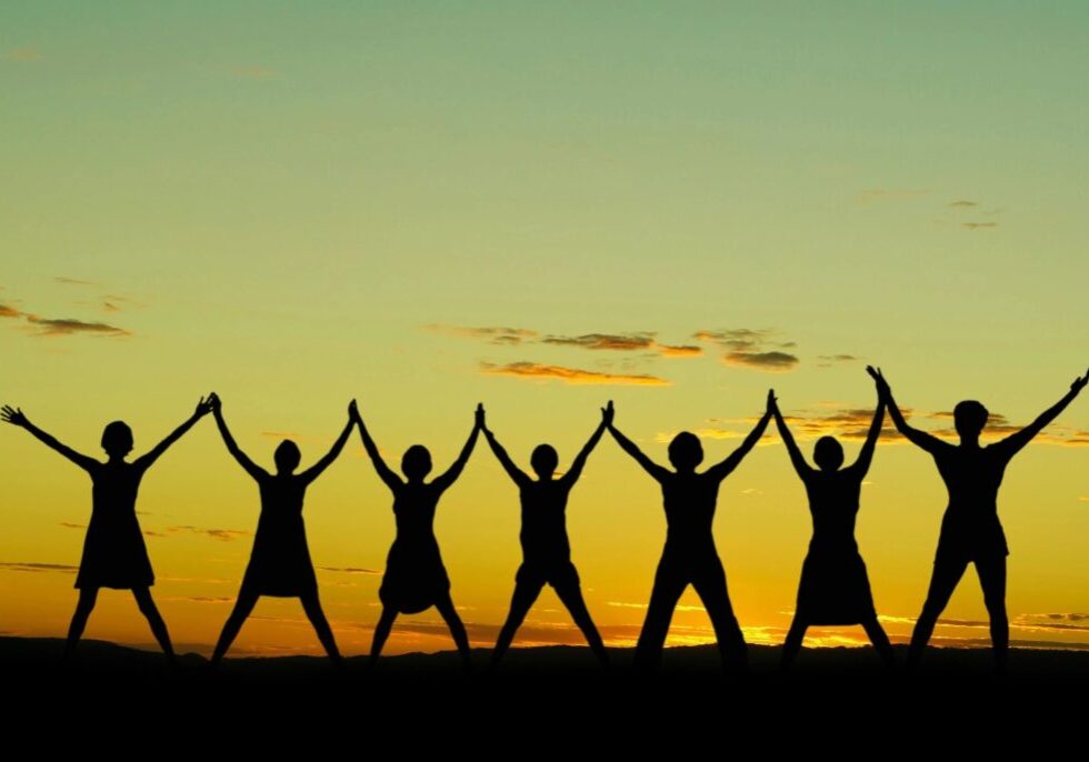
<path fill-rule="evenodd" d="M 1009 553 L 998 520 L 998 489 L 1012 452 L 1001 442 L 985 448 L 945 444 L 933 453 L 949 492 L 940 543 L 975 558 Z"/>

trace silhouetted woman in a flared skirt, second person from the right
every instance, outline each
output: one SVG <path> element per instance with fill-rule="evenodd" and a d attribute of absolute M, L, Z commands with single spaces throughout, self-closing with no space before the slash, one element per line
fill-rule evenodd
<path fill-rule="evenodd" d="M 855 542 L 859 495 L 862 480 L 873 460 L 877 439 L 881 435 L 885 399 L 878 395 L 873 422 L 862 450 L 858 460 L 846 469 L 840 468 L 843 464 L 843 448 L 833 437 L 817 440 L 813 448 L 817 468 L 810 468 L 787 422 L 782 420 L 779 404 L 772 404 L 779 435 L 787 445 L 795 471 L 806 485 L 809 513 L 813 519 L 813 537 L 801 567 L 795 619 L 782 644 L 782 668 L 786 670 L 793 662 L 806 638 L 806 629 L 813 624 L 861 624 L 878 655 L 891 668 L 896 663 L 892 645 L 878 622 L 866 563 Z"/>

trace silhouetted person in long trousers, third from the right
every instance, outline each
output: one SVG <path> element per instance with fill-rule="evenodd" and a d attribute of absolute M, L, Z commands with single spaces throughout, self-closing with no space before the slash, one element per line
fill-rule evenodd
<path fill-rule="evenodd" d="M 691 584 L 711 619 L 723 665 L 747 670 L 745 636 L 733 615 L 726 589 L 726 572 L 715 549 L 711 523 L 718 501 L 719 484 L 763 435 L 771 418 L 773 398 L 768 392 L 768 410 L 741 445 L 726 460 L 703 473 L 696 467 L 703 461 L 703 447 L 696 434 L 682 431 L 669 443 L 669 462 L 677 471 L 658 465 L 610 422 L 609 431 L 623 450 L 636 459 L 661 484 L 666 509 L 666 547 L 655 573 L 655 588 L 647 606 L 647 620 L 636 644 L 635 666 L 657 671 L 669 633 L 669 622 L 685 589 Z"/>

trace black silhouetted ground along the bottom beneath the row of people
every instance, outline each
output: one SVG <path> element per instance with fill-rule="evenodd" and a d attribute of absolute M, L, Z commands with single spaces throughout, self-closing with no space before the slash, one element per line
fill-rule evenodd
<path fill-rule="evenodd" d="M 891 675 L 869 649 L 811 650 L 783 676 L 777 648 L 751 646 L 742 676 L 723 674 L 713 648 L 678 648 L 649 680 L 631 673 L 628 650 L 612 651 L 602 674 L 570 646 L 514 649 L 496 674 L 476 651 L 469 675 L 453 653 L 383 658 L 373 672 L 362 658 L 338 671 L 312 656 L 229 659 L 212 672 L 197 654 L 171 670 L 154 652 L 80 648 L 66 666 L 59 640 L 0 638 L 9 739 L 218 755 L 306 743 L 353 754 L 919 756 L 1018 742 L 1075 751 L 1089 725 L 1089 653 L 1073 651 L 1016 650 L 997 680 L 987 650 L 931 649 L 918 672 Z"/>

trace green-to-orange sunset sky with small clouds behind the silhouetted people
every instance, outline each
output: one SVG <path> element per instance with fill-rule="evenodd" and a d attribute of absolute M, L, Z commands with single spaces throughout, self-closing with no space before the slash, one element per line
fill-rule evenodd
<path fill-rule="evenodd" d="M 851 457 L 867 362 L 925 428 L 965 398 L 998 433 L 1029 422 L 1089 357 L 1089 9 L 767 6 L 6 3 L 0 401 L 101 454 L 106 422 L 142 451 L 214 389 L 264 464 L 284 435 L 316 459 L 352 397 L 393 459 L 422 442 L 449 462 L 483 401 L 518 462 L 548 441 L 566 463 L 608 399 L 655 459 L 686 429 L 720 459 L 770 387 L 807 452 L 835 432 Z M 1007 472 L 1015 642 L 1089 648 L 1087 432 L 1082 399 Z M 0 631 L 60 635 L 89 481 L 10 427 L 0 464 Z M 378 619 L 390 503 L 358 439 L 308 495 L 347 653 Z M 882 441 L 858 539 L 895 640 L 943 507 L 929 457 Z M 257 490 L 208 420 L 139 508 L 171 633 L 207 651 Z M 568 515 L 591 613 L 631 643 L 658 489 L 606 439 Z M 436 529 L 490 644 L 520 551 L 486 447 Z M 809 529 L 768 434 L 716 522 L 751 641 L 781 641 Z M 100 601 L 88 636 L 151 642 L 131 596 Z M 699 600 L 681 603 L 670 642 L 708 641 Z M 936 642 L 987 638 L 971 573 L 945 621 Z M 581 638 L 547 591 L 516 645 L 552 642 Z M 429 612 L 389 649 L 450 644 Z M 317 651 L 297 601 L 262 599 L 233 652 Z"/>

